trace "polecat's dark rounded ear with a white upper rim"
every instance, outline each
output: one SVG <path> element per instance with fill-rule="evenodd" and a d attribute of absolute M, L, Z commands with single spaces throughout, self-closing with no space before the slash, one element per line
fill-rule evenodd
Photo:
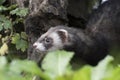
<path fill-rule="evenodd" d="M 58 35 L 60 36 L 62 42 L 66 42 L 68 40 L 68 31 L 65 29 L 59 29 L 57 31 Z"/>

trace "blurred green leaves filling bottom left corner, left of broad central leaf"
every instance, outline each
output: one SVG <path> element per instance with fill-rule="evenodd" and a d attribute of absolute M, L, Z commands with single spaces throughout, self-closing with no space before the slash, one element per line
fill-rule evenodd
<path fill-rule="evenodd" d="M 39 75 L 44 80 L 48 80 L 47 76 L 40 68 L 32 61 L 28 60 L 13 60 L 8 63 L 4 56 L 0 57 L 0 79 L 1 80 L 31 80 L 32 77 L 26 79 L 27 75 Z M 30 75 L 30 76 L 31 76 Z"/>

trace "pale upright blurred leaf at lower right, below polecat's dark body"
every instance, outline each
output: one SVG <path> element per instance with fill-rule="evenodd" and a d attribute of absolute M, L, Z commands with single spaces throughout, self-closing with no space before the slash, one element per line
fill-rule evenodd
<path fill-rule="evenodd" d="M 102 60 L 95 68 L 92 70 L 91 80 L 102 80 L 108 69 L 108 65 L 113 61 L 113 57 L 107 56 L 104 60 Z"/>

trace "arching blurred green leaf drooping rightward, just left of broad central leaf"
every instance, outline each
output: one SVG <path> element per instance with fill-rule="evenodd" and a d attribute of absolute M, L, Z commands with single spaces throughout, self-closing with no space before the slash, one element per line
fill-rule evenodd
<path fill-rule="evenodd" d="M 45 75 L 37 64 L 33 61 L 28 60 L 14 60 L 10 64 L 10 71 L 15 74 L 21 74 L 21 72 L 28 72 L 34 75 L 40 76 L 43 80 L 49 80 L 48 76 Z M 17 79 L 17 78 L 16 78 Z M 16 80 L 15 79 L 15 80 Z"/>

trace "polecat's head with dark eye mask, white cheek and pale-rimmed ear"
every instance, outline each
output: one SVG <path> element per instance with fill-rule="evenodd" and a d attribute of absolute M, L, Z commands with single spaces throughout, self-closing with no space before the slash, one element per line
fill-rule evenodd
<path fill-rule="evenodd" d="M 62 49 L 68 41 L 68 32 L 61 28 L 50 28 L 33 44 L 38 52 L 48 52 Z"/>

